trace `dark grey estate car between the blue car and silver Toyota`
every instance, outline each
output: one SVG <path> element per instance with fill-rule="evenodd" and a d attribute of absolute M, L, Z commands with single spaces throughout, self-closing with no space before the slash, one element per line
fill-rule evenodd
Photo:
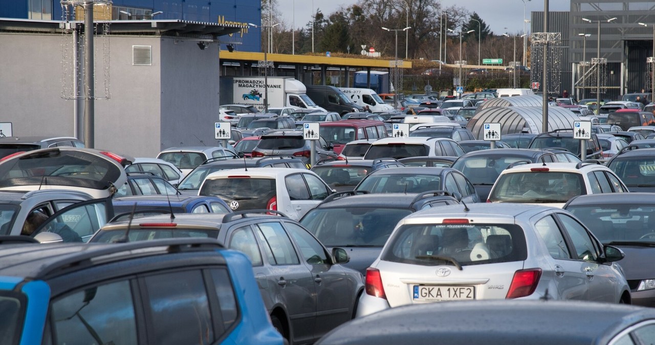
<path fill-rule="evenodd" d="M 253 213 L 184 213 L 174 221 L 170 215 L 142 217 L 138 224 L 109 223 L 90 242 L 113 242 L 124 235 L 130 242 L 217 238 L 248 256 L 271 321 L 290 344 L 312 343 L 352 319 L 364 284 L 360 272 L 342 265 L 348 262 L 346 251 L 327 251 L 288 217 Z"/>

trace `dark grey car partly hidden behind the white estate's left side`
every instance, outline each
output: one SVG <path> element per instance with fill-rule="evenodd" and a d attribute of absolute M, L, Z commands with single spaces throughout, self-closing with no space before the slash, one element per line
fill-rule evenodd
<path fill-rule="evenodd" d="M 460 156 L 451 166 L 468 178 L 476 187 L 480 200 L 487 200 L 491 187 L 500 172 L 512 164 L 558 162 L 555 154 L 544 150 L 489 149 L 472 151 Z"/>

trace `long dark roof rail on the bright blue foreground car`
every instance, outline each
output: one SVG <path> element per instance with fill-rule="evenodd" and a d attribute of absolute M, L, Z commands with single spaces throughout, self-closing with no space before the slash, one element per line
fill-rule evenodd
<path fill-rule="evenodd" d="M 89 245 L 89 244 L 85 244 Z M 47 277 L 54 276 L 58 272 L 65 271 L 67 268 L 84 268 L 92 266 L 92 259 L 103 257 L 103 263 L 116 262 L 129 257 L 144 257 L 150 255 L 160 255 L 159 251 L 141 251 L 134 253 L 138 249 L 166 247 L 168 253 L 181 253 L 184 251 L 207 250 L 215 251 L 216 248 L 224 248 L 223 244 L 213 238 L 166 238 L 161 240 L 136 241 L 125 244 L 102 245 L 102 247 L 84 251 L 79 251 L 67 255 L 61 259 L 56 259 L 52 263 L 39 266 L 34 276 L 29 277 L 34 280 L 45 280 Z M 125 253 L 124 256 L 117 255 Z M 27 278 L 27 277 L 26 277 Z"/>

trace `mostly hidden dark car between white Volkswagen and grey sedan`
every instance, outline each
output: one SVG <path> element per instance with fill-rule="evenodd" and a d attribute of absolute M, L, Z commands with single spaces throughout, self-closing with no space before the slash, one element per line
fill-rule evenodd
<path fill-rule="evenodd" d="M 394 158 L 377 158 L 374 160 L 337 160 L 328 158 L 316 162 L 312 172 L 320 176 L 329 187 L 337 192 L 354 189 L 366 175 L 384 168 L 398 168 L 405 166 Z"/>

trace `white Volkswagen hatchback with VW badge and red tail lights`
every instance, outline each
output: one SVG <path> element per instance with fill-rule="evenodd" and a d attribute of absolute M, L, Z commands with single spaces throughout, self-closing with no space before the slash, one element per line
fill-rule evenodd
<path fill-rule="evenodd" d="M 332 192 L 310 170 L 248 168 L 210 173 L 198 195 L 217 196 L 234 211 L 275 209 L 298 220 Z"/>

